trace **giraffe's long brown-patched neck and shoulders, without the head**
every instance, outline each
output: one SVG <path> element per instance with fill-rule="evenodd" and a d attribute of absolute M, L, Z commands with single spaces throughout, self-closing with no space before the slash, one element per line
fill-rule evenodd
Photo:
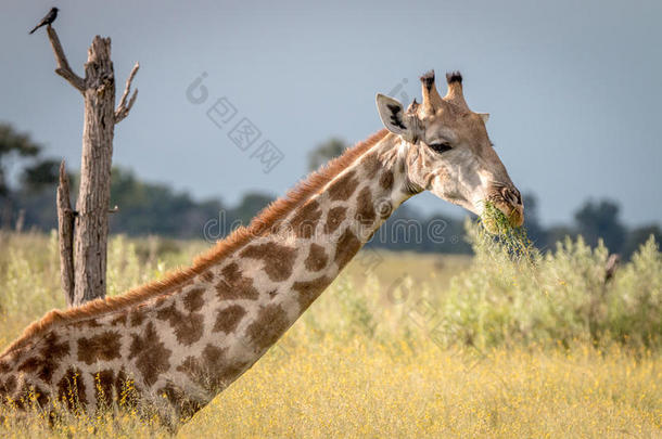
<path fill-rule="evenodd" d="M 140 293 L 150 294 L 144 299 L 129 294 L 35 323 L 0 354 L 0 397 L 16 399 L 31 388 L 43 400 L 68 399 L 75 379 L 76 399 L 93 408 L 131 379 L 157 406 L 189 414 L 204 406 L 411 196 L 397 138 L 381 133 L 375 141 L 332 164 L 336 175 L 311 177 L 295 202 L 260 215 L 268 227 L 252 224 L 227 253 L 150 285 Z"/>

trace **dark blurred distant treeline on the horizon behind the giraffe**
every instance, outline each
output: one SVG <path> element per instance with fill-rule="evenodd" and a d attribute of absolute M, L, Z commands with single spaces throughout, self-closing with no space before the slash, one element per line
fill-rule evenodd
<path fill-rule="evenodd" d="M 342 154 L 347 146 L 340 139 L 330 139 L 318 145 L 309 155 L 309 169 Z M 40 157 L 41 146 L 29 137 L 0 124 L 0 228 L 56 229 L 55 184 L 59 164 Z M 10 172 L 9 164 L 18 163 L 20 172 Z M 10 179 L 10 173 L 14 176 Z M 77 193 L 76 176 L 71 176 L 73 193 Z M 239 204 L 228 206 L 219 198 L 196 201 L 186 192 L 176 192 L 169 185 L 141 181 L 129 170 L 114 168 L 111 184 L 111 232 L 137 235 L 163 235 L 177 238 L 216 241 L 251 219 L 273 195 L 246 193 Z M 537 201 L 524 194 L 525 228 L 529 236 L 540 249 L 553 249 L 564 236 L 583 235 L 595 246 L 601 237 L 612 253 L 629 255 L 651 234 L 658 242 L 662 232 L 658 224 L 626 228 L 619 205 L 603 199 L 588 201 L 574 215 L 571 224 L 551 228 L 540 225 Z M 463 220 L 444 215 L 427 216 L 404 205 L 398 208 L 375 233 L 370 246 L 393 250 L 469 254 L 464 241 Z"/>

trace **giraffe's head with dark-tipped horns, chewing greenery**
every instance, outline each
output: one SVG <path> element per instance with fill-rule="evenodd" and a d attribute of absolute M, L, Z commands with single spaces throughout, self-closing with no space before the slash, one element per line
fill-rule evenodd
<path fill-rule="evenodd" d="M 512 225 L 521 225 L 522 197 L 487 135 L 489 115 L 469 109 L 459 73 L 447 74 L 446 80 L 448 92 L 442 98 L 434 72 L 423 75 L 423 100 L 413 100 L 406 111 L 395 99 L 377 95 L 384 126 L 403 140 L 408 188 L 429 190 L 479 216 L 489 202 Z"/>

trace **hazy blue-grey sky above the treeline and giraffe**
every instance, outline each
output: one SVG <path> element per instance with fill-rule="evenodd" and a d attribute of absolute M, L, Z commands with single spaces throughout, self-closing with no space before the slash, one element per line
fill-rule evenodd
<path fill-rule="evenodd" d="M 69 64 L 82 74 L 94 35 L 110 36 L 118 94 L 132 64 L 140 92 L 115 131 L 114 163 L 195 197 L 283 193 L 331 135 L 381 128 L 374 94 L 420 95 L 418 76 L 459 69 L 512 180 L 547 224 L 588 197 L 610 197 L 629 224 L 662 221 L 660 1 L 3 1 L 0 120 L 50 156 L 80 159 L 82 102 L 53 73 L 43 31 L 52 7 Z M 205 73 L 208 100 L 187 100 Z M 442 75 L 437 75 L 442 76 Z M 444 89 L 444 85 L 440 86 Z M 444 90 L 441 90 L 442 93 Z M 217 99 L 284 155 L 265 173 L 252 150 L 206 116 Z M 255 146 L 256 147 L 256 146 Z M 463 215 L 425 194 L 425 211 Z"/>

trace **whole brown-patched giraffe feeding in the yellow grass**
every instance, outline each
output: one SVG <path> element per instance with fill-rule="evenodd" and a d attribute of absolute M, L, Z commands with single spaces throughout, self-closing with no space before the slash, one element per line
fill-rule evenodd
<path fill-rule="evenodd" d="M 377 95 L 385 128 L 291 190 L 192 267 L 117 297 L 52 310 L 0 354 L 0 397 L 86 411 L 131 383 L 157 413 L 189 417 L 249 370 L 409 197 L 429 190 L 481 215 L 523 221 L 486 114 L 459 73 L 421 77 L 422 101 Z M 75 398 L 72 398 L 72 393 Z M 167 414 L 169 413 L 169 415 Z"/>

